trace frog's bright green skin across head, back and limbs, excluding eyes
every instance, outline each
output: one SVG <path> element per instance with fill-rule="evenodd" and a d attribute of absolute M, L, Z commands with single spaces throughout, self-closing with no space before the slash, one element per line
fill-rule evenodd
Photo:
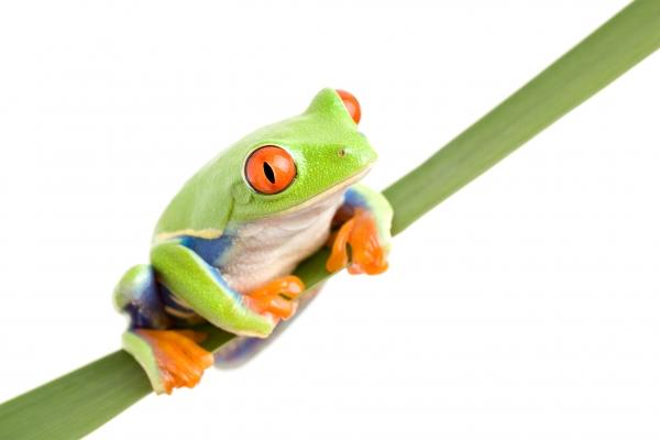
<path fill-rule="evenodd" d="M 296 163 L 294 182 L 282 193 L 255 191 L 244 176 L 245 161 L 263 145 L 285 148 Z M 204 320 L 239 336 L 265 338 L 277 320 L 260 315 L 242 301 L 244 293 L 232 290 L 222 273 L 195 253 L 185 240 L 218 240 L 256 221 L 278 219 L 322 200 L 337 188 L 361 178 L 376 153 L 333 89 L 321 90 L 301 114 L 264 127 L 243 138 L 211 160 L 170 201 L 154 232 L 151 267 L 135 266 L 120 280 L 114 295 L 119 309 L 136 305 L 140 288 L 153 270 L 157 282 Z M 342 189 L 342 190 L 345 190 Z M 373 213 L 381 244 L 388 249 L 392 208 L 385 198 L 362 185 L 351 187 Z M 300 260 L 307 255 L 300 255 Z M 147 315 L 144 305 L 140 305 Z M 153 328 L 172 323 L 154 312 Z M 134 329 L 135 326 L 133 326 Z M 180 324 L 178 326 L 180 327 Z M 151 346 L 133 330 L 123 338 L 158 391 L 158 373 Z"/>

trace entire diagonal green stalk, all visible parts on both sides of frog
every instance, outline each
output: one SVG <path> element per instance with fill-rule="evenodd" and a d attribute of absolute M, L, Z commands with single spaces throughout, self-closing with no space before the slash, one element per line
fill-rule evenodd
<path fill-rule="evenodd" d="M 399 233 L 510 152 L 660 47 L 660 0 L 630 3 L 384 194 Z M 308 287 L 330 275 L 321 251 L 297 270 Z M 231 339 L 210 331 L 205 345 Z M 151 393 L 118 351 L 0 405 L 0 439 L 70 439 L 91 432 Z"/>

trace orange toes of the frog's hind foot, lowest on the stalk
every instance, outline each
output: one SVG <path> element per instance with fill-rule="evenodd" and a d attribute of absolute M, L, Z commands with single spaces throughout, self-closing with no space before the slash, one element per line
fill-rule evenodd
<path fill-rule="evenodd" d="M 167 394 L 182 386 L 193 388 L 204 371 L 213 364 L 213 355 L 197 344 L 204 341 L 205 333 L 145 329 L 135 332 L 152 346 L 163 389 Z"/>

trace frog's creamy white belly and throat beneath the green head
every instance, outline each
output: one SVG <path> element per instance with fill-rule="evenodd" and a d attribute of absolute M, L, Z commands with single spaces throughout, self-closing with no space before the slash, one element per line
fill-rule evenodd
<path fill-rule="evenodd" d="M 248 294 L 290 274 L 328 240 L 343 195 L 344 190 L 337 191 L 295 212 L 242 226 L 218 267 L 229 286 Z"/>

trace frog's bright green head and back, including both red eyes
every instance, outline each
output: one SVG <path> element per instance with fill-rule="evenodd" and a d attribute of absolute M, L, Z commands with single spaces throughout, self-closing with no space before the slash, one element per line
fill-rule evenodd
<path fill-rule="evenodd" d="M 376 160 L 360 117 L 352 95 L 321 90 L 304 113 L 256 130 L 200 169 L 156 233 L 212 238 L 229 222 L 290 212 L 345 188 Z"/>

